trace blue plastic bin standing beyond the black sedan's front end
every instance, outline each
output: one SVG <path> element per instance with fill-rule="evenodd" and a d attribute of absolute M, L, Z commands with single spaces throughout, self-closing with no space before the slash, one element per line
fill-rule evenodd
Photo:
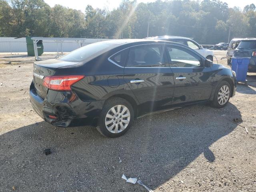
<path fill-rule="evenodd" d="M 248 65 L 250 63 L 250 58 L 235 58 L 231 59 L 231 69 L 236 72 L 237 81 L 246 81 L 246 75 L 248 70 Z"/>

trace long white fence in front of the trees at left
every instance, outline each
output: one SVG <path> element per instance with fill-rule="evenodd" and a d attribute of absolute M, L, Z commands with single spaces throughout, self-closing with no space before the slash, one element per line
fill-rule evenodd
<path fill-rule="evenodd" d="M 87 38 L 85 42 L 82 43 L 82 46 L 106 40 L 112 39 Z M 57 52 L 57 44 L 55 42 L 44 40 L 43 45 L 44 52 Z M 65 40 L 62 43 L 63 52 L 70 52 L 77 48 L 79 48 L 78 44 L 74 41 Z M 60 51 L 60 43 L 58 44 L 58 50 Z M 27 52 L 26 38 L 15 39 L 14 37 L 0 37 L 0 52 Z"/>

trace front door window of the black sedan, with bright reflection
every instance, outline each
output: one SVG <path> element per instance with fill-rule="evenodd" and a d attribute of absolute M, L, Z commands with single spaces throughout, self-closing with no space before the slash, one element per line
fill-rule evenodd
<path fill-rule="evenodd" d="M 180 48 L 167 47 L 170 55 L 170 67 L 200 67 L 200 58 Z"/>

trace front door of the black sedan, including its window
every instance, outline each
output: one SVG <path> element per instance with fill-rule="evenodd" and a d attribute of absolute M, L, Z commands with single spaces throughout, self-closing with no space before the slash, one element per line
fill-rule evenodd
<path fill-rule="evenodd" d="M 211 68 L 204 67 L 204 60 L 188 48 L 166 46 L 166 52 L 174 76 L 173 104 L 208 100 L 212 91 Z"/>

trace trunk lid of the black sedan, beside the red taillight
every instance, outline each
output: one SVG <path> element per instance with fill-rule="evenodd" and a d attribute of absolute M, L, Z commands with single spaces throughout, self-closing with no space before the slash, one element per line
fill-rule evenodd
<path fill-rule="evenodd" d="M 76 65 L 78 62 L 66 62 L 56 59 L 44 60 L 34 63 L 33 70 L 33 82 L 36 93 L 45 98 L 48 92 L 48 88 L 43 86 L 45 76 L 53 76 L 56 73 L 56 69 L 66 66 Z"/>

